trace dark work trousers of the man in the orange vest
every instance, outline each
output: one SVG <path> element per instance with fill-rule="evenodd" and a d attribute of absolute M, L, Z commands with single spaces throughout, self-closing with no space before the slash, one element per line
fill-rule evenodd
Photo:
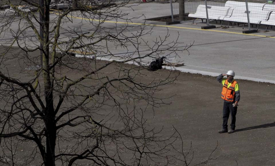
<path fill-rule="evenodd" d="M 233 103 L 223 103 L 223 116 L 222 116 L 222 127 L 227 129 L 227 121 L 229 118 L 229 114 L 231 115 L 231 129 L 235 130 L 235 123 L 236 123 L 236 114 L 237 114 L 237 107 L 233 107 Z"/>

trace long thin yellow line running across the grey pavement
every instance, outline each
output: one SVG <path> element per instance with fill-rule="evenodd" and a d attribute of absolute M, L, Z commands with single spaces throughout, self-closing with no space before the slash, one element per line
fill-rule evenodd
<path fill-rule="evenodd" d="M 55 10 L 58 11 L 58 10 Z M 53 12 L 54 13 L 54 12 Z M 60 13 L 55 13 L 56 15 L 59 15 Z M 95 19 L 89 19 L 89 18 L 81 18 L 81 17 L 74 17 L 74 16 L 68 16 L 71 18 L 81 19 L 81 20 L 89 20 L 89 21 L 102 21 L 102 20 L 95 20 Z M 169 25 L 156 25 L 156 24 L 142 24 L 142 23 L 127 23 L 127 22 L 118 22 L 118 21 L 103 21 L 108 23 L 116 23 L 116 24 L 132 24 L 132 25 L 147 25 L 147 26 L 156 26 L 156 27 L 165 27 L 165 28 L 179 28 L 179 29 L 193 29 L 193 30 L 201 30 L 201 31 L 213 31 L 213 32 L 222 32 L 222 33 L 232 33 L 232 34 L 240 34 L 240 35 L 251 35 L 251 36 L 259 36 L 259 37 L 266 37 L 266 38 L 275 38 L 272 36 L 265 36 L 265 35 L 255 35 L 255 34 L 244 34 L 239 32 L 228 32 L 228 31 L 218 31 L 218 30 L 211 30 L 211 29 L 199 29 L 199 28 L 186 28 L 186 27 L 176 27 L 176 26 L 169 26 Z"/>

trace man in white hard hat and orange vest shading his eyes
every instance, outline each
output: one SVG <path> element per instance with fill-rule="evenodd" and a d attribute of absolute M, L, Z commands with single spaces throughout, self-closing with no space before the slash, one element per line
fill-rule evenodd
<path fill-rule="evenodd" d="M 226 76 L 227 78 L 224 78 Z M 229 70 L 226 74 L 220 74 L 217 77 L 218 82 L 222 83 L 222 99 L 223 103 L 223 115 L 222 115 L 222 130 L 219 133 L 233 133 L 235 131 L 237 106 L 240 101 L 240 90 L 239 84 L 234 80 L 235 72 Z M 229 114 L 231 114 L 231 125 L 230 129 L 227 130 L 227 121 L 229 119 Z"/>

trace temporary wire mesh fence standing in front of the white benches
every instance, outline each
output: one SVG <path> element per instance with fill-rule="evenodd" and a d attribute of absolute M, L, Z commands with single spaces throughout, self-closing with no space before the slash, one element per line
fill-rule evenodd
<path fill-rule="evenodd" d="M 207 7 L 207 8 L 206 8 Z M 207 9 L 207 10 L 206 10 Z M 275 4 L 269 1 L 179 0 L 173 3 L 174 19 L 206 22 L 224 26 L 267 28 L 275 26 Z M 208 15 L 207 15 L 208 13 Z M 178 16 L 178 17 L 177 17 Z M 250 22 L 250 24 L 248 24 Z"/>

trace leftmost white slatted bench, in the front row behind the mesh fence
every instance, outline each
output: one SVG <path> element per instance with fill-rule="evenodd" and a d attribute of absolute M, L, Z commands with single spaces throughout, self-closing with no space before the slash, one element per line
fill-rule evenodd
<path fill-rule="evenodd" d="M 230 13 L 230 7 L 221 7 L 221 6 L 207 6 L 208 19 L 213 20 L 223 20 L 223 18 Z M 196 13 L 189 14 L 188 17 L 193 18 L 204 18 L 206 19 L 206 9 L 205 5 L 199 5 Z"/>

